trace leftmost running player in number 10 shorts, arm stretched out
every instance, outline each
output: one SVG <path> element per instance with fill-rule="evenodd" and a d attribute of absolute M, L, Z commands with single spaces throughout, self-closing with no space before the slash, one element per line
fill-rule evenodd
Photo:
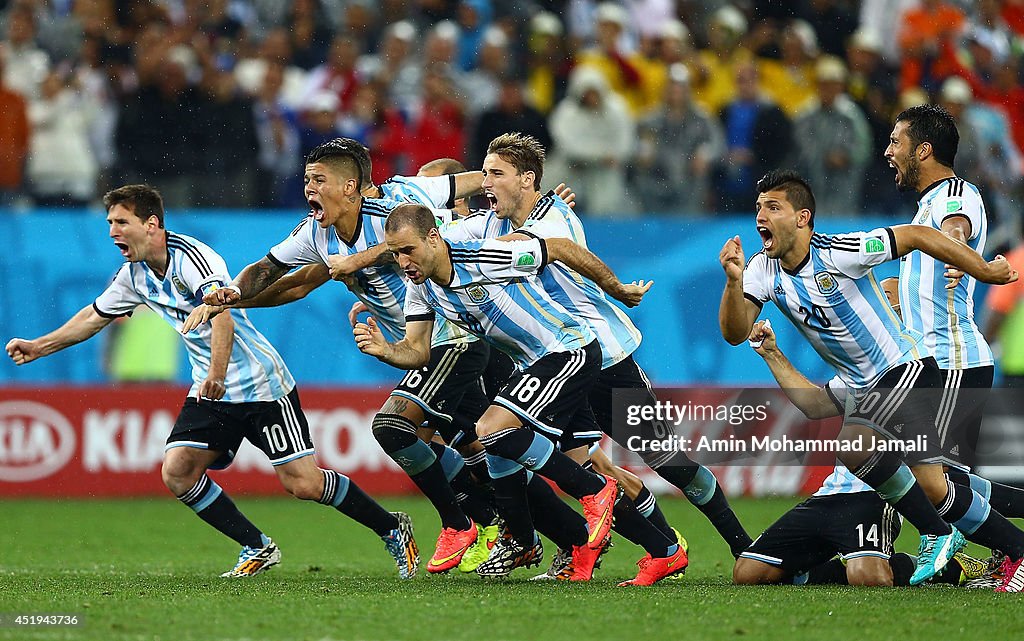
<path fill-rule="evenodd" d="M 58 330 L 34 340 L 11 339 L 7 354 L 16 365 L 81 343 L 139 305 L 180 330 L 204 294 L 230 282 L 216 252 L 164 228 L 163 200 L 153 187 L 114 189 L 103 205 L 125 264 L 95 302 Z M 278 546 L 206 474 L 229 465 L 243 438 L 266 454 L 294 497 L 332 506 L 370 527 L 384 541 L 398 574 L 415 575 L 419 552 L 409 516 L 387 512 L 348 477 L 316 466 L 295 381 L 245 311 L 220 314 L 184 341 L 193 386 L 167 439 L 163 478 L 200 518 L 242 546 L 238 563 L 221 575 L 252 576 L 281 562 Z"/>

